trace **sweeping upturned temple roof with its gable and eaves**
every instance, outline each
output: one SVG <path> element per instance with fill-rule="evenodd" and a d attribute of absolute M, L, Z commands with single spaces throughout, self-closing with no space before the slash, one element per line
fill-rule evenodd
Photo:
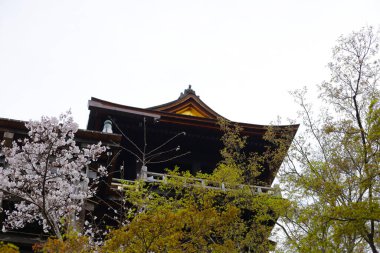
<path fill-rule="evenodd" d="M 214 129 L 219 131 L 217 124 L 219 118 L 224 118 L 207 106 L 189 86 L 177 100 L 146 109 L 127 105 L 121 105 L 92 97 L 88 101 L 90 111 L 100 111 L 105 114 L 118 114 L 120 116 L 148 117 L 156 121 Z M 90 114 L 87 129 L 101 130 L 103 122 L 96 122 L 97 117 Z M 104 119 L 102 119 L 104 120 Z M 247 124 L 232 122 L 243 128 L 243 134 L 263 135 L 268 130 L 268 125 Z M 299 125 L 272 126 L 274 129 L 291 129 L 294 134 Z"/>

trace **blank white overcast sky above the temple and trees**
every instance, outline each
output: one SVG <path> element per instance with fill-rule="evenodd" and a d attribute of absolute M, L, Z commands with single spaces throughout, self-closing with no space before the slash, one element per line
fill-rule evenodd
<path fill-rule="evenodd" d="M 288 91 L 328 79 L 338 36 L 365 25 L 379 0 L 0 0 L 0 117 L 71 108 L 85 128 L 92 96 L 144 108 L 192 84 L 230 120 L 295 118 Z"/>

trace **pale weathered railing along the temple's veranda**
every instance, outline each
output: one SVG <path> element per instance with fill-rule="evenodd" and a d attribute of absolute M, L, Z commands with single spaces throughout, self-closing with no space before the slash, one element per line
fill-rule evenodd
<path fill-rule="evenodd" d="M 167 183 L 168 180 L 170 180 L 170 178 L 179 179 L 180 182 L 183 182 L 185 187 L 195 186 L 195 187 L 204 187 L 207 189 L 222 190 L 222 191 L 249 189 L 250 192 L 254 194 L 266 193 L 266 194 L 271 194 L 275 196 L 281 196 L 281 192 L 279 191 L 279 189 L 272 188 L 272 187 L 244 185 L 244 184 L 228 185 L 226 183 L 220 183 L 220 182 L 211 181 L 211 180 L 202 179 L 202 178 L 187 178 L 187 177 L 174 176 L 174 175 L 149 172 L 149 171 L 146 172 L 146 177 L 143 177 L 141 180 L 148 183 Z M 122 191 L 127 188 L 134 187 L 135 184 L 136 184 L 136 181 L 133 181 L 133 180 L 123 180 L 119 178 L 112 178 L 111 187 L 115 190 Z"/>

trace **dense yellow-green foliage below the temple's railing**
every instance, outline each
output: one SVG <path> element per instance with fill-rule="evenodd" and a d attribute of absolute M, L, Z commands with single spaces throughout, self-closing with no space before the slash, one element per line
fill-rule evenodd
<path fill-rule="evenodd" d="M 136 184 L 127 193 L 133 219 L 109 235 L 102 251 L 267 252 L 273 247 L 268 237 L 283 199 L 246 189 L 184 187 L 184 180 L 192 179 L 181 175 L 167 184 Z"/>

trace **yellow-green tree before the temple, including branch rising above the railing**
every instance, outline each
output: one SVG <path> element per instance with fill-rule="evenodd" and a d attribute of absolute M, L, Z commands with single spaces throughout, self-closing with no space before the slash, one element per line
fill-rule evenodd
<path fill-rule="evenodd" d="M 102 252 L 268 252 L 269 235 L 287 201 L 248 184 L 261 160 L 244 154 L 241 129 L 221 121 L 223 160 L 210 175 L 168 171 L 165 183 L 126 185 L 133 208 Z M 223 185 L 223 186 L 222 186 Z M 265 190 L 263 190 L 265 191 Z M 272 192 L 273 193 L 273 192 Z"/>

